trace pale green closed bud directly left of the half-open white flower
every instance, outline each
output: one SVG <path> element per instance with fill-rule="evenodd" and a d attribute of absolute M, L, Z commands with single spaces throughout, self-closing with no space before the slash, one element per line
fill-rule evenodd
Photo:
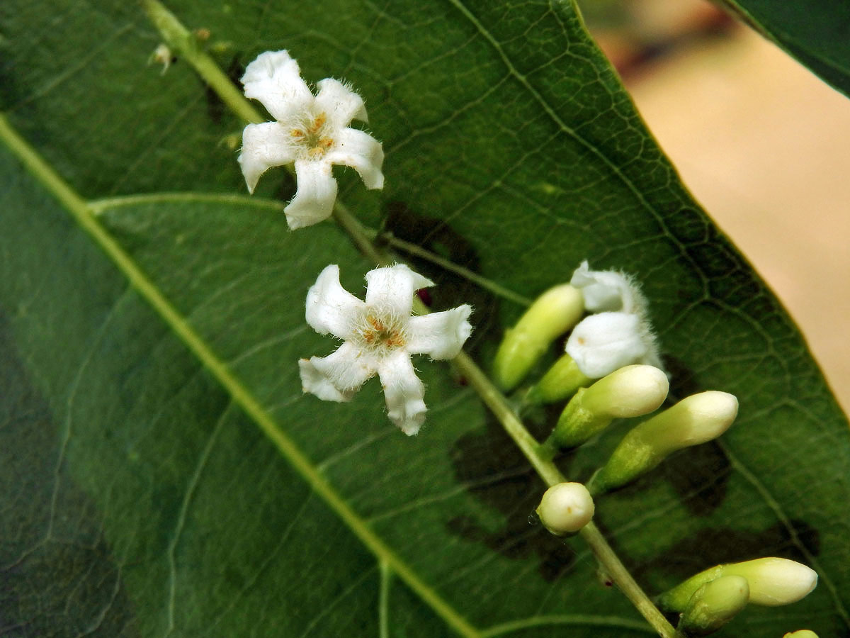
<path fill-rule="evenodd" d="M 502 390 L 512 390 L 540 361 L 549 345 L 575 326 L 582 314 L 581 291 L 568 283 L 541 294 L 501 340 L 493 364 L 496 384 Z"/>

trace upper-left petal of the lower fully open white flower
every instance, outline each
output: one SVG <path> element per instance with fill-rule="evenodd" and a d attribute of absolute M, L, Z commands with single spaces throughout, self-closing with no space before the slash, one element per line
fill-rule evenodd
<path fill-rule="evenodd" d="M 339 283 L 339 266 L 326 266 L 307 291 L 306 319 L 317 333 L 349 339 L 365 304 Z"/>

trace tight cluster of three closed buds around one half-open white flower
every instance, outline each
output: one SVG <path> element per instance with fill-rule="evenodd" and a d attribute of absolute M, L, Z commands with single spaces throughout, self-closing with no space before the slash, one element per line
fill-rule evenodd
<path fill-rule="evenodd" d="M 516 388 L 568 332 L 565 354 L 524 394 L 527 403 L 571 397 L 545 443 L 553 453 L 580 446 L 615 419 L 655 412 L 670 389 L 638 284 L 621 272 L 591 271 L 587 261 L 569 284 L 543 293 L 507 331 L 496 353 L 496 382 Z M 737 399 L 726 392 L 687 397 L 629 432 L 589 483 L 590 492 L 624 486 L 671 453 L 711 441 L 737 413 Z"/>

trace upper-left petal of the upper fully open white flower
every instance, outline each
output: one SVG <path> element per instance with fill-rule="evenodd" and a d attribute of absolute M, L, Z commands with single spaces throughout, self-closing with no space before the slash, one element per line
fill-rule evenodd
<path fill-rule="evenodd" d="M 245 69 L 245 97 L 259 100 L 276 120 L 286 120 L 311 104 L 313 94 L 287 51 L 266 51 Z"/>

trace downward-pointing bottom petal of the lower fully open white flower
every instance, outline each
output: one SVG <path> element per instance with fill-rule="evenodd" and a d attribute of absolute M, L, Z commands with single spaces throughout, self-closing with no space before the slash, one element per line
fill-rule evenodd
<path fill-rule="evenodd" d="M 387 399 L 387 416 L 407 436 L 419 431 L 425 422 L 425 385 L 416 376 L 411 356 L 404 350 L 382 359 L 377 364 L 383 394 Z"/>

